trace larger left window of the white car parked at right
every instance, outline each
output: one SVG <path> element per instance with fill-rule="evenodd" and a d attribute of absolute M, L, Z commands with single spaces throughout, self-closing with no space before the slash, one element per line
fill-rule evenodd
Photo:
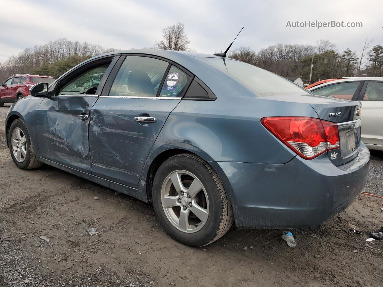
<path fill-rule="evenodd" d="M 343 82 L 324 86 L 313 92 L 319 96 L 332 97 L 337 99 L 351 100 L 357 90 L 360 82 Z"/>

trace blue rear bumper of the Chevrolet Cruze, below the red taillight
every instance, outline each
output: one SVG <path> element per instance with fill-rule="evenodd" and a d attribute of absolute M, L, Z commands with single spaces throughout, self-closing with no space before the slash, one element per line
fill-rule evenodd
<path fill-rule="evenodd" d="M 237 227 L 297 228 L 318 225 L 351 205 L 366 183 L 369 160 L 360 143 L 357 157 L 342 166 L 334 166 L 327 153 L 283 165 L 216 164 L 228 179 Z"/>

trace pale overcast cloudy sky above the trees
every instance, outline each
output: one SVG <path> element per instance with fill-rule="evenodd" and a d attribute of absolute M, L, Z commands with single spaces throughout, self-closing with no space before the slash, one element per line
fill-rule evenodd
<path fill-rule="evenodd" d="M 368 4 L 367 4 L 368 3 Z M 156 1 L 0 0 L 0 62 L 26 47 L 67 38 L 118 49 L 153 46 L 161 30 L 181 21 L 198 52 L 233 47 L 255 51 L 277 43 L 311 44 L 325 39 L 339 51 L 359 51 L 367 36 L 382 44 L 383 4 L 364 1 Z M 362 22 L 363 28 L 289 28 L 287 21 Z"/>

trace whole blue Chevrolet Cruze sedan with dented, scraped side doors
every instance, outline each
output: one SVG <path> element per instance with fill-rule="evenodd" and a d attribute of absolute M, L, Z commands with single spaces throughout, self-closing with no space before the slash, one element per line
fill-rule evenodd
<path fill-rule="evenodd" d="M 46 163 L 151 202 L 186 245 L 233 222 L 317 225 L 366 183 L 359 102 L 219 55 L 113 52 L 30 92 L 6 119 L 19 168 Z"/>

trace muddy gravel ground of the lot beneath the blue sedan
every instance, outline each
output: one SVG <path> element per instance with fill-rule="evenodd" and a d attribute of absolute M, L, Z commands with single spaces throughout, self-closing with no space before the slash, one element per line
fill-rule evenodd
<path fill-rule="evenodd" d="M 383 285 L 383 242 L 365 241 L 383 223 L 383 199 L 361 195 L 327 222 L 292 230 L 294 249 L 282 230 L 235 228 L 190 248 L 167 236 L 149 204 L 51 166 L 16 168 L 7 111 L 0 108 L 0 287 Z M 363 191 L 383 196 L 383 155 L 372 155 Z"/>

